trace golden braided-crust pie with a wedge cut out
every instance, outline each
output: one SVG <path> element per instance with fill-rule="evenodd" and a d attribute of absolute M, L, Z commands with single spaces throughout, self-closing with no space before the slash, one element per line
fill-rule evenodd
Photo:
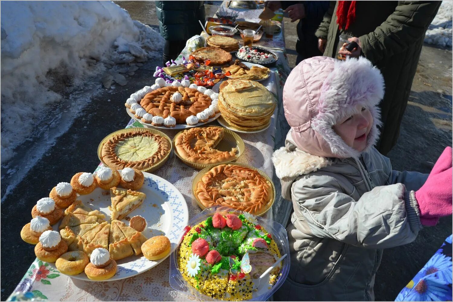
<path fill-rule="evenodd" d="M 175 139 L 178 155 L 191 163 L 214 164 L 236 158 L 236 148 L 219 151 L 217 144 L 224 138 L 225 130 L 220 127 L 196 127 L 184 130 Z"/>

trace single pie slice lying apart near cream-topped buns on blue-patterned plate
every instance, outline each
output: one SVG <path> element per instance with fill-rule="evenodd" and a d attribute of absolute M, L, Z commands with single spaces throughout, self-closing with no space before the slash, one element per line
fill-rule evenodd
<path fill-rule="evenodd" d="M 138 191 L 125 190 L 117 187 L 110 189 L 112 205 L 111 220 L 121 220 L 134 211 L 146 198 L 146 194 Z"/>

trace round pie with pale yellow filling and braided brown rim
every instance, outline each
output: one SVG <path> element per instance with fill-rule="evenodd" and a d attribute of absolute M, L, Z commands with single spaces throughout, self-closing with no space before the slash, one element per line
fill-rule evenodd
<path fill-rule="evenodd" d="M 170 152 L 170 142 L 148 131 L 120 133 L 109 139 L 101 151 L 102 161 L 114 169 L 145 170 Z"/>

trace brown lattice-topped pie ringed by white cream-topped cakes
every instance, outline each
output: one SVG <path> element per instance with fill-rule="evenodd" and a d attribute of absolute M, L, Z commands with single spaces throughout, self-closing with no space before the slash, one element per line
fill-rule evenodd
<path fill-rule="evenodd" d="M 173 98 L 175 93 L 178 98 Z M 140 100 L 140 106 L 153 116 L 169 115 L 176 119 L 176 124 L 185 124 L 190 115 L 197 115 L 211 105 L 211 98 L 189 87 L 167 86 L 149 92 Z"/>

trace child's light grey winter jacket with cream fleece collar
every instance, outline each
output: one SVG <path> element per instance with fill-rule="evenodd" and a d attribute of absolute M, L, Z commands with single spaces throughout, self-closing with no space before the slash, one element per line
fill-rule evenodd
<path fill-rule="evenodd" d="M 392 170 L 374 148 L 360 160 L 314 156 L 291 130 L 272 159 L 294 207 L 291 268 L 275 300 L 374 300 L 382 249 L 414 241 L 422 228 L 413 190 L 428 175 Z"/>

